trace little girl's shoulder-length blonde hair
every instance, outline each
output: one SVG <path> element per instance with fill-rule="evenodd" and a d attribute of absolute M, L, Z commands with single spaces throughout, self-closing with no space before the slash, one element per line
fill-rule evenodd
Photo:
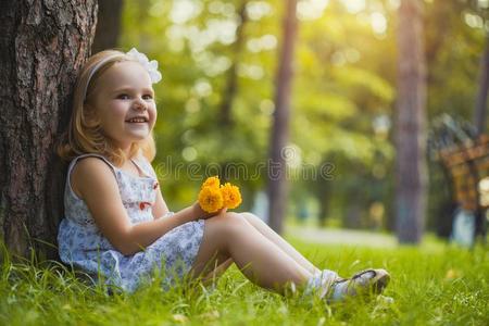
<path fill-rule="evenodd" d="M 93 105 L 89 105 L 93 90 L 100 76 L 116 62 L 135 61 L 124 52 L 105 50 L 88 59 L 76 80 L 73 95 L 73 112 L 68 129 L 63 134 L 58 154 L 66 161 L 87 154 L 97 153 L 106 156 L 115 165 L 121 165 L 126 159 L 133 158 L 139 151 L 151 162 L 156 153 L 152 133 L 145 139 L 130 146 L 126 158 L 121 148 L 115 147 L 103 135 L 100 124 L 96 121 Z"/>

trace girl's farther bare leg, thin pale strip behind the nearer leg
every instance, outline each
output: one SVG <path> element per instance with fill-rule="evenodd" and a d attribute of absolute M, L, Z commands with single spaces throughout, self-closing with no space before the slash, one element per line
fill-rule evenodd
<path fill-rule="evenodd" d="M 287 242 L 283 237 L 280 237 L 276 231 L 269 228 L 265 222 L 252 213 L 240 213 L 254 228 L 256 228 L 262 235 L 264 235 L 268 240 L 274 242 L 278 248 L 280 248 L 285 253 L 291 256 L 299 265 L 309 271 L 309 273 L 314 274 L 321 272 L 316 266 L 314 266 L 310 261 L 308 261 L 299 251 L 296 250 L 289 242 Z"/>

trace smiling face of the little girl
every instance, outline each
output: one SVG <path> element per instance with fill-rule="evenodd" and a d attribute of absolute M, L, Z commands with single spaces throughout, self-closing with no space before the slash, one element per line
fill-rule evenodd
<path fill-rule="evenodd" d="M 148 72 L 133 61 L 117 62 L 100 76 L 92 104 L 104 135 L 121 149 L 147 138 L 156 121 Z"/>

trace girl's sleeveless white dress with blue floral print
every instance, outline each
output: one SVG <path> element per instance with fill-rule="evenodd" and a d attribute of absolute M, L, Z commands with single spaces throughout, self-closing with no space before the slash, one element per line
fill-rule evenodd
<path fill-rule="evenodd" d="M 133 160 L 146 175 L 134 176 L 96 154 L 80 155 L 74 159 L 66 177 L 64 192 L 65 218 L 61 221 L 58 243 L 61 260 L 74 267 L 82 268 L 95 279 L 103 275 L 108 285 L 114 285 L 126 291 L 134 291 L 142 280 L 148 280 L 155 271 L 165 272 L 163 288 L 167 289 L 175 278 L 187 274 L 196 259 L 202 241 L 204 221 L 189 222 L 175 227 L 133 255 L 118 252 L 100 233 L 85 204 L 73 191 L 70 175 L 79 159 L 97 156 L 106 162 L 114 172 L 118 190 L 133 224 L 152 221 L 151 206 L 160 191 L 156 176 L 146 159 Z M 162 218 L 173 215 L 168 212 Z"/>

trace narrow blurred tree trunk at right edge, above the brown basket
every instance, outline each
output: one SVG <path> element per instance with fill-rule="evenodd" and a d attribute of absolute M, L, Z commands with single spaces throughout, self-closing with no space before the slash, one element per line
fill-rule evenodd
<path fill-rule="evenodd" d="M 486 35 L 486 48 L 480 58 L 480 76 L 479 76 L 479 91 L 477 92 L 476 106 L 474 110 L 474 124 L 477 128 L 477 134 L 486 133 L 486 117 L 487 117 L 487 91 L 489 87 L 489 35 Z"/>

